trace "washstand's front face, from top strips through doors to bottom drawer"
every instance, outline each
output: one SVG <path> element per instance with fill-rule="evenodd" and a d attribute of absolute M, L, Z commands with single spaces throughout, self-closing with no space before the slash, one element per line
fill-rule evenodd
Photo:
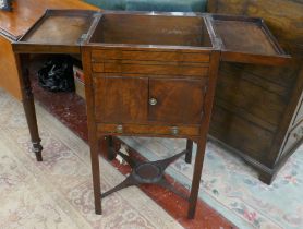
<path fill-rule="evenodd" d="M 87 49 L 100 135 L 199 134 L 209 84 L 209 51 Z"/>

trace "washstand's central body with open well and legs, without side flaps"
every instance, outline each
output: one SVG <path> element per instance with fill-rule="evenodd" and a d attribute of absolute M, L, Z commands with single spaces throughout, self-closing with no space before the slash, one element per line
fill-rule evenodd
<path fill-rule="evenodd" d="M 189 145 L 192 141 L 197 143 L 191 194 L 185 196 L 189 218 L 194 217 L 197 201 L 219 63 L 217 44 L 205 20 L 193 15 L 104 12 L 82 45 L 90 146 L 97 148 L 92 138 L 112 135 L 184 137 Z M 150 26 L 154 29 L 148 29 Z M 185 153 L 191 155 L 191 147 L 177 156 Z M 93 164 L 97 164 L 93 159 L 96 154 L 93 149 Z M 142 164 L 147 177 L 140 172 L 141 166 L 134 166 L 125 181 L 101 196 L 128 186 L 125 182 L 166 182 L 166 161 L 177 156 Z M 161 164 L 167 166 L 162 168 Z M 99 213 L 100 205 L 95 206 Z"/>

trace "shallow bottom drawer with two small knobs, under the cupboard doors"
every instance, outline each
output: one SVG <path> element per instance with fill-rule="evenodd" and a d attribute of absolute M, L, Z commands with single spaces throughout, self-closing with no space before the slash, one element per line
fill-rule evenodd
<path fill-rule="evenodd" d="M 123 135 L 173 135 L 182 136 L 198 136 L 199 125 L 144 125 L 144 124 L 98 124 L 97 132 L 102 134 L 123 134 Z"/>

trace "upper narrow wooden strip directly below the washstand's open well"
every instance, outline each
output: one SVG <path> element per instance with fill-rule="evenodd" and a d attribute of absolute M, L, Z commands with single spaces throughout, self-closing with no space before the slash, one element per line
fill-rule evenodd
<path fill-rule="evenodd" d="M 182 51 L 146 51 L 98 49 L 92 51 L 93 62 L 104 60 L 154 60 L 154 61 L 180 61 L 180 62 L 209 62 L 209 52 L 182 52 Z"/>

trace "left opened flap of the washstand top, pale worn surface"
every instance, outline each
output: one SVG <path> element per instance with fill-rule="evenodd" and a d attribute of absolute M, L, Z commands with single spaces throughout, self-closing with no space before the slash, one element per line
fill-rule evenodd
<path fill-rule="evenodd" d="M 52 52 L 58 46 L 61 52 L 80 52 L 81 41 L 90 28 L 96 13 L 88 10 L 47 10 L 20 38 L 19 47 L 29 52 L 38 52 L 39 49 Z"/>

